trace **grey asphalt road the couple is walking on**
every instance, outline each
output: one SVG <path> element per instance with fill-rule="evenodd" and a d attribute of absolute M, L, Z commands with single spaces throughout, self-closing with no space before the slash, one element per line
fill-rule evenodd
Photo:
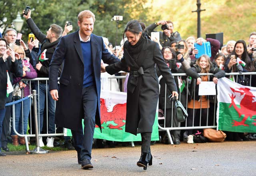
<path fill-rule="evenodd" d="M 147 170 L 136 165 L 140 145 L 92 149 L 94 168 L 90 170 L 83 170 L 77 164 L 76 151 L 50 151 L 47 154 L 9 152 L 0 157 L 0 175 L 256 175 L 256 141 L 155 144 L 151 151 L 153 165 Z"/>

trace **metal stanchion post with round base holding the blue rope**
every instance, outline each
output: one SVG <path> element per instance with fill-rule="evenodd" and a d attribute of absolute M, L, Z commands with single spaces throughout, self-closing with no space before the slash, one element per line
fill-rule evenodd
<path fill-rule="evenodd" d="M 36 90 L 33 90 L 34 101 L 34 117 L 35 117 L 35 130 L 36 130 L 36 148 L 30 151 L 31 154 L 43 154 L 48 153 L 48 150 L 44 150 L 39 147 L 39 134 L 38 134 L 38 117 L 37 117 L 37 104 L 36 104 Z M 28 140 L 28 139 L 27 139 Z"/>

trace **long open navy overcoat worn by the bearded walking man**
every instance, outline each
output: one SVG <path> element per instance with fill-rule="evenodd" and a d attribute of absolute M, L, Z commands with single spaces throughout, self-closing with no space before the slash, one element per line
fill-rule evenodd
<path fill-rule="evenodd" d="M 98 96 L 95 123 L 100 123 L 100 63 L 112 64 L 120 61 L 106 49 L 102 37 L 91 34 L 92 71 Z M 60 127 L 77 130 L 84 118 L 82 88 L 84 60 L 78 31 L 61 37 L 50 63 L 49 89 L 58 90 L 58 68 L 64 62 L 60 76 L 59 100 L 56 102 L 55 123 Z"/>

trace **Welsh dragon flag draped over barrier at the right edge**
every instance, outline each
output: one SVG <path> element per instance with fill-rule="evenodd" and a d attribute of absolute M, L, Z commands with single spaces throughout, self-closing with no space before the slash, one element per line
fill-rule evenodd
<path fill-rule="evenodd" d="M 217 89 L 217 130 L 256 133 L 256 88 L 220 78 Z"/>

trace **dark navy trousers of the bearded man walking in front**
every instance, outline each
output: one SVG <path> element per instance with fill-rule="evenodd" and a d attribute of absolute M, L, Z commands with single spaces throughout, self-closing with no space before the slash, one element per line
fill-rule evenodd
<path fill-rule="evenodd" d="M 82 124 L 77 130 L 71 130 L 71 132 L 74 139 L 74 148 L 80 154 L 81 160 L 84 160 L 92 158 L 92 141 L 98 102 L 95 86 L 83 88 L 82 101 L 84 108 L 84 134 Z"/>

